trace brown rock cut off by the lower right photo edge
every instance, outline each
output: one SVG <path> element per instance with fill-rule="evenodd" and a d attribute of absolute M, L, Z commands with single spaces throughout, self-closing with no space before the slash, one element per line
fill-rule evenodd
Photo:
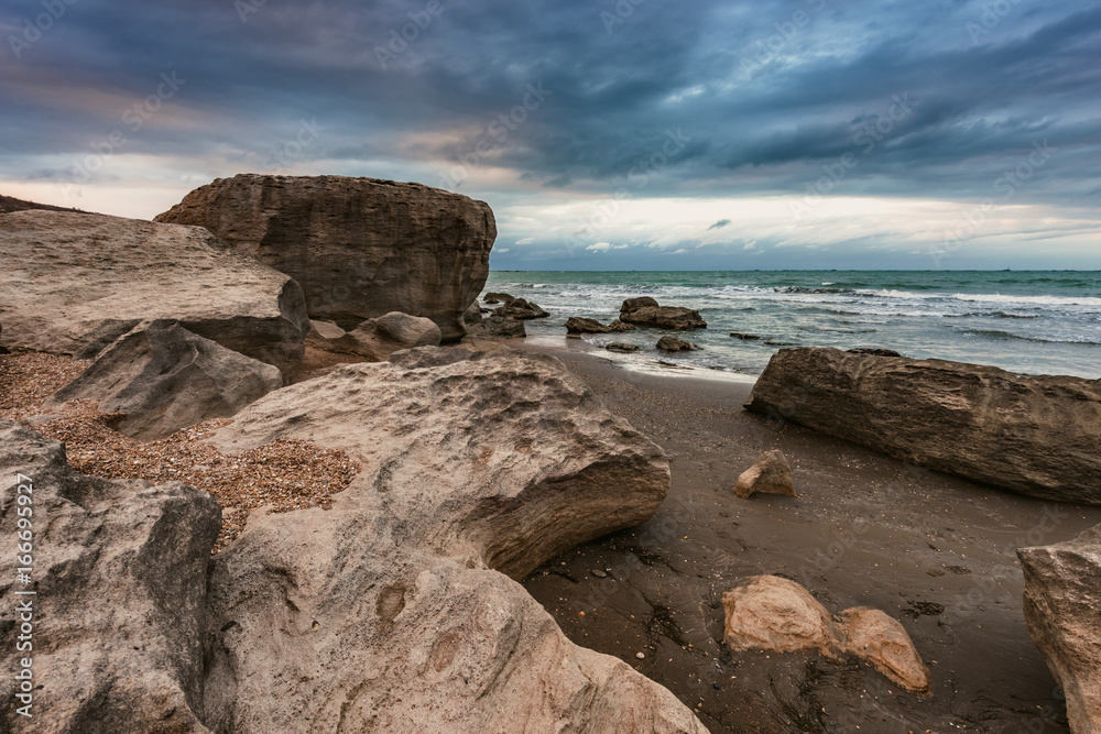
<path fill-rule="evenodd" d="M 1070 731 L 1101 732 L 1101 525 L 1017 558 L 1028 634 L 1067 697 Z"/>

